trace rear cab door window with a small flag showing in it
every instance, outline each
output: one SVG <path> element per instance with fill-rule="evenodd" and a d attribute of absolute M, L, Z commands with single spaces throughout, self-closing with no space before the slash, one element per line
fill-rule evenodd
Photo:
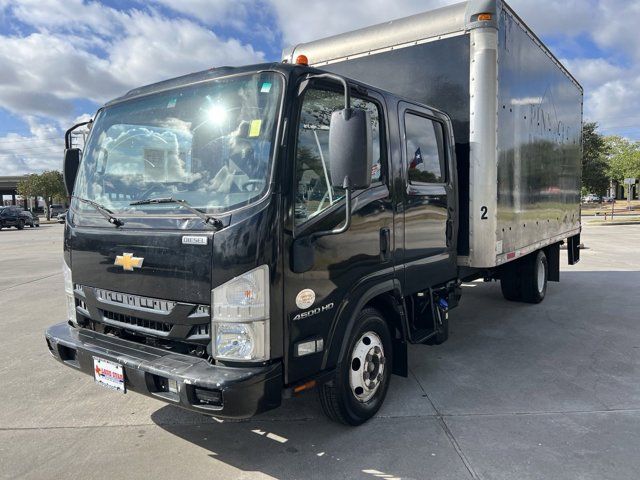
<path fill-rule="evenodd" d="M 442 124 L 407 112 L 404 126 L 409 182 L 444 183 L 446 164 Z"/>

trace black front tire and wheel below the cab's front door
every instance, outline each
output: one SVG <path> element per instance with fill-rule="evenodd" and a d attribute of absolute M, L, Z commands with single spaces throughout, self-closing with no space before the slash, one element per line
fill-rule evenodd
<path fill-rule="evenodd" d="M 335 376 L 318 389 L 331 420 L 361 425 L 382 406 L 392 371 L 392 339 L 387 322 L 374 308 L 358 315 Z"/>

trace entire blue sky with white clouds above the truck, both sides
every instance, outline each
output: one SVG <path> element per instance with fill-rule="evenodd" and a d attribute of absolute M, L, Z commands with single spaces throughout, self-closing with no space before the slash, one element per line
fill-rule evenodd
<path fill-rule="evenodd" d="M 0 0 L 0 175 L 60 169 L 62 135 L 135 86 L 455 3 Z M 585 89 L 585 120 L 640 139 L 640 0 L 512 0 Z"/>

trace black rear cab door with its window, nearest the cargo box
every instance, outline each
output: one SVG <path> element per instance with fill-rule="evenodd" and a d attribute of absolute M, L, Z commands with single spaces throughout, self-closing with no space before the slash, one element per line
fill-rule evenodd
<path fill-rule="evenodd" d="M 404 294 L 456 278 L 455 169 L 446 117 L 405 102 L 403 149 Z"/>

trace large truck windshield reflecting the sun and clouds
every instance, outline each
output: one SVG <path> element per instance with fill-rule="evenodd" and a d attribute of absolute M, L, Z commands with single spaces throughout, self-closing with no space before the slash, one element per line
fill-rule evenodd
<path fill-rule="evenodd" d="M 93 123 L 74 195 L 132 215 L 180 209 L 132 205 L 156 197 L 209 213 L 257 200 L 269 187 L 282 90 L 280 75 L 256 73 L 105 108 Z"/>

